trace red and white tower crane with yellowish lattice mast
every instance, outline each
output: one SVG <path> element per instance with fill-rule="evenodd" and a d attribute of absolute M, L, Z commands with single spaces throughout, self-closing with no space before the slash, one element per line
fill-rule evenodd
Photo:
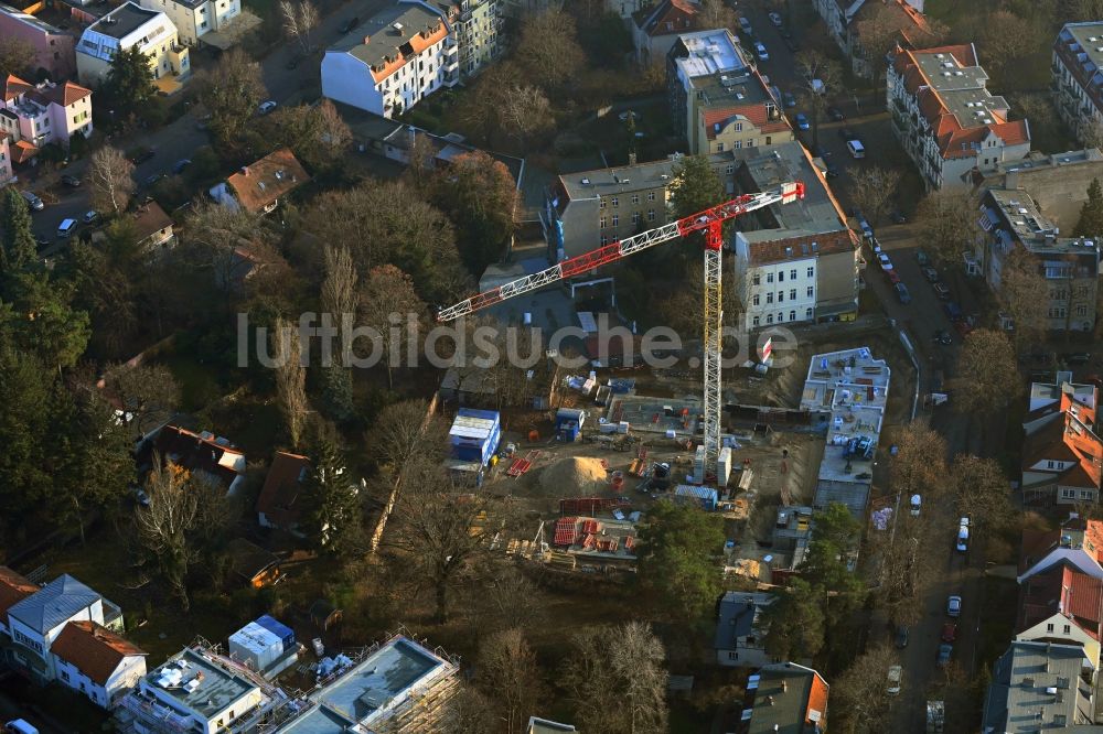
<path fill-rule="evenodd" d="M 506 299 L 523 295 L 544 288 L 554 282 L 581 276 L 595 268 L 615 262 L 630 255 L 635 255 L 656 245 L 668 242 L 678 237 L 685 237 L 695 231 L 705 235 L 705 283 L 704 283 L 704 446 L 705 466 L 716 468 L 720 453 L 720 414 L 722 410 L 720 392 L 720 353 L 724 327 L 722 289 L 721 289 L 721 250 L 724 248 L 724 223 L 738 216 L 761 209 L 772 204 L 789 204 L 804 198 L 804 184 L 801 182 L 783 183 L 775 188 L 757 194 L 743 194 L 724 204 L 698 212 L 677 222 L 655 227 L 627 237 L 615 242 L 603 245 L 596 250 L 567 258 L 550 268 L 510 281 L 478 295 L 460 301 L 456 305 L 441 310 L 437 321 L 446 322 L 465 316 L 469 313 L 486 309 Z M 707 469 L 706 469 L 707 471 Z M 703 477 L 699 477 L 703 478 Z"/>

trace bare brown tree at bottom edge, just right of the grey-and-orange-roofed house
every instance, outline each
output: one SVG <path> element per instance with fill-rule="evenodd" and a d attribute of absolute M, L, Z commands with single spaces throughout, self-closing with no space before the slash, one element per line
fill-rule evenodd
<path fill-rule="evenodd" d="M 832 686 L 832 711 L 837 712 L 839 731 L 847 734 L 888 731 L 892 709 L 888 705 L 885 679 L 896 655 L 887 646 L 879 646 L 859 655 Z M 908 681 L 901 681 L 906 686 Z"/>

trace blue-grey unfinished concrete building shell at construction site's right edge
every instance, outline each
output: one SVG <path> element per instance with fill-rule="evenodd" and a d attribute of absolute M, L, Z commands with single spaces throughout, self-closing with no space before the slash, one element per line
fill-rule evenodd
<path fill-rule="evenodd" d="M 876 359 L 869 347 L 817 354 L 808 365 L 801 408 L 829 411 L 827 445 L 820 463 L 820 488 L 814 505 L 821 506 L 821 489 L 840 493 L 844 500 L 850 485 L 868 492 L 885 406 L 888 402 L 891 370 L 884 359 Z M 847 456 L 853 442 L 868 441 L 865 454 Z M 849 503 L 847 503 L 849 504 Z"/>

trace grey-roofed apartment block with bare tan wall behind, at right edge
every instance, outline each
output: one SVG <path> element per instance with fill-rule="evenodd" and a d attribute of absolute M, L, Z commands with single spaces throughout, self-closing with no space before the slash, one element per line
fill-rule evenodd
<path fill-rule="evenodd" d="M 984 180 L 966 269 L 983 274 L 999 294 L 1004 267 L 1013 256 L 1019 258 L 1048 281 L 1049 298 L 1037 307 L 1049 331 L 1091 332 L 1095 326 L 1100 242 L 1062 236 L 1061 230 L 1073 231 L 1096 176 L 1103 176 L 1103 156 L 1085 150 L 1032 155 Z"/>

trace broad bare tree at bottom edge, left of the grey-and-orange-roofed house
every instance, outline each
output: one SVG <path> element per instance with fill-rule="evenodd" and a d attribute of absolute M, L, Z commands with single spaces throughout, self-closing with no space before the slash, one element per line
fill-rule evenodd
<path fill-rule="evenodd" d="M 666 654 L 645 623 L 587 627 L 571 647 L 560 681 L 588 731 L 666 732 Z"/>

